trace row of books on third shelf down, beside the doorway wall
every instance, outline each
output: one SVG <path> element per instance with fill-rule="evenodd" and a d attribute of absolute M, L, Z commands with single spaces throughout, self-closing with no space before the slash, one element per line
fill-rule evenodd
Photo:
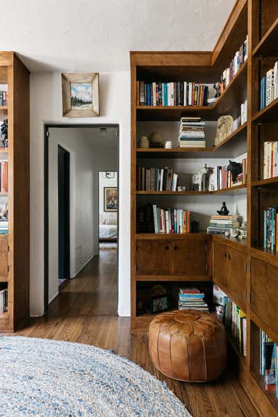
<path fill-rule="evenodd" d="M 178 174 L 172 168 L 137 167 L 137 190 L 176 191 Z"/>

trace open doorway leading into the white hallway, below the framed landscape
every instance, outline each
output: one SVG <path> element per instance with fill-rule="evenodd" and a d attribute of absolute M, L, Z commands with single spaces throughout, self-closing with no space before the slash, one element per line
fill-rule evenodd
<path fill-rule="evenodd" d="M 113 294 L 111 311 L 117 315 L 117 250 L 98 255 L 99 172 L 118 171 L 118 130 L 117 124 L 45 126 L 44 313 L 50 302 L 70 291 L 75 293 L 71 300 L 83 297 L 82 303 L 90 306 L 90 297 L 95 297 L 90 289 L 96 286 L 101 300 L 107 297 L 107 291 Z M 118 200 L 117 193 L 116 204 Z M 98 271 L 107 274 L 102 276 Z M 87 289 L 82 287 L 84 275 L 88 278 Z M 62 282 L 65 286 L 60 290 Z"/>

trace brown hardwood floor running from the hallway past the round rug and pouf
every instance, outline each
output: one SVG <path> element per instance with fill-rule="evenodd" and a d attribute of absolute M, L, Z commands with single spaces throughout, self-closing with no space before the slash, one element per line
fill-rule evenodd
<path fill-rule="evenodd" d="M 101 251 L 51 303 L 49 314 L 33 318 L 18 335 L 88 343 L 138 363 L 168 386 L 194 417 L 257 417 L 231 361 L 224 375 L 209 384 L 173 381 L 158 373 L 149 358 L 147 334 L 130 334 L 129 318 L 117 317 L 116 251 Z"/>

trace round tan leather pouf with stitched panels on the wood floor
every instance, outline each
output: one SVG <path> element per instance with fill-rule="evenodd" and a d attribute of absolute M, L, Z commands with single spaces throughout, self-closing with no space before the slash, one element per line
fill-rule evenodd
<path fill-rule="evenodd" d="M 149 325 L 149 353 L 154 366 L 167 377 L 212 381 L 226 366 L 224 326 L 205 311 L 161 313 Z"/>

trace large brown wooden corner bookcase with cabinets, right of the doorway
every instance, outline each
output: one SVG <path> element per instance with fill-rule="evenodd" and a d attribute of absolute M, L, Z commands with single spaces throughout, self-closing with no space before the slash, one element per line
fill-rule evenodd
<path fill-rule="evenodd" d="M 278 140 L 278 99 L 259 110 L 261 76 L 278 60 L 278 1 L 238 0 L 213 51 L 137 52 L 131 51 L 131 327 L 145 332 L 153 315 L 137 313 L 138 291 L 144 285 L 167 284 L 173 291 L 179 285 L 195 284 L 212 293 L 215 283 L 247 316 L 247 355 L 238 353 L 231 335 L 228 341 L 238 354 L 239 379 L 262 416 L 278 413 L 275 393 L 264 389 L 259 373 L 260 329 L 278 343 L 278 256 L 264 252 L 263 211 L 278 206 L 278 177 L 263 179 L 263 142 Z M 215 83 L 227 68 L 248 35 L 248 56 L 220 98 L 208 106 L 138 106 L 136 81 L 195 81 Z M 247 99 L 247 123 L 240 126 L 217 147 L 205 149 L 140 149 L 142 124 L 152 130 L 163 122 L 173 124 L 182 116 L 202 117 L 215 122 L 220 115 L 240 115 L 240 104 Z M 148 126 L 148 127 L 147 127 Z M 151 131 L 152 131 L 151 130 Z M 151 131 L 147 131 L 151 133 Z M 188 158 L 218 158 L 223 149 L 230 158 L 240 156 L 238 145 L 247 151 L 247 184 L 215 192 L 154 192 L 136 189 L 137 167 L 162 166 L 156 161 L 189 163 Z M 246 152 L 245 151 L 245 152 Z M 243 154 L 243 152 L 241 152 Z M 221 158 L 221 156 L 219 156 Z M 161 163 L 161 162 L 160 162 Z M 163 162 L 162 162 L 163 163 Z M 181 165 L 179 165 L 180 167 Z M 179 168 L 180 170 L 180 168 Z M 227 193 L 227 194 L 226 194 Z M 198 234 L 140 234 L 137 227 L 138 204 L 172 201 L 186 208 L 198 195 L 204 212 L 208 198 L 234 195 L 245 198 L 247 240 L 239 241 Z M 166 200 L 165 200 L 166 199 Z M 218 200 L 219 201 L 219 200 Z M 221 201 L 221 200 L 220 200 Z M 169 205 L 170 206 L 170 205 Z M 211 212 L 206 213 L 209 216 Z M 197 283 L 197 284 L 196 284 Z"/>

